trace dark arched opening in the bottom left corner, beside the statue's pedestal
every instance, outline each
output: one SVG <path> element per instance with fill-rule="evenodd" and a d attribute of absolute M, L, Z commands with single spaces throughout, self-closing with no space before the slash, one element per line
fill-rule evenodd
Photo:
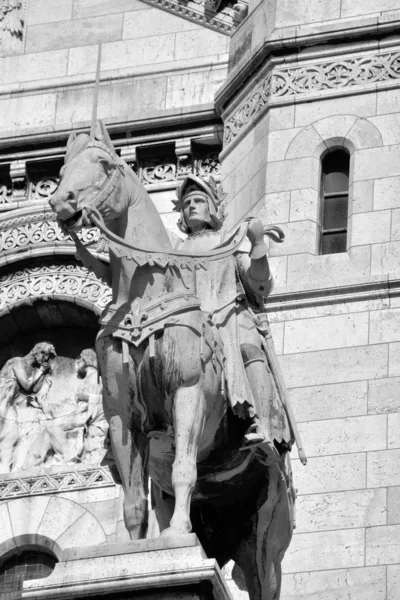
<path fill-rule="evenodd" d="M 42 579 L 53 571 L 57 559 L 47 552 L 23 550 L 0 563 L 1 600 L 19 600 L 28 579 Z"/>

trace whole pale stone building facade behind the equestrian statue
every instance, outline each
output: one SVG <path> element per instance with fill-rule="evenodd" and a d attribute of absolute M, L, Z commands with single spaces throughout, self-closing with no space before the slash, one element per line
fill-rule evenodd
<path fill-rule="evenodd" d="M 398 600 L 396 2 L 28 0 L 3 8 L 1 23 L 1 366 L 43 341 L 59 365 L 48 447 L 29 462 L 14 444 L 0 476 L 1 564 L 125 536 L 119 486 L 87 441 L 93 417 L 57 412 L 66 386 L 78 398 L 74 358 L 110 297 L 48 208 L 71 129 L 90 126 L 101 42 L 98 116 L 166 225 L 178 233 L 172 200 L 194 172 L 221 181 L 227 229 L 257 215 L 286 236 L 270 242 L 266 309 L 309 460 L 292 452 L 297 528 L 282 599 Z M 85 233 L 104 259 L 97 240 Z M 26 448 L 44 431 L 43 410 L 28 412 L 14 419 Z M 68 455 L 51 444 L 60 422 Z"/>

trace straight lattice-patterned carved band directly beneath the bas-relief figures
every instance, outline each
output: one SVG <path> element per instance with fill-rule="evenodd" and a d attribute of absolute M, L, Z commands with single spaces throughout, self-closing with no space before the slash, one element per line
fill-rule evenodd
<path fill-rule="evenodd" d="M 74 469 L 59 473 L 42 473 L 30 476 L 4 476 L 0 478 L 0 500 L 71 492 L 92 488 L 110 487 L 114 484 L 106 467 Z"/>

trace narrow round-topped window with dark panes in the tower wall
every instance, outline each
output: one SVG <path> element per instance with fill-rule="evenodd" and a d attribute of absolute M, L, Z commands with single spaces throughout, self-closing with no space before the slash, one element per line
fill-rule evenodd
<path fill-rule="evenodd" d="M 321 254 L 346 252 L 350 156 L 329 152 L 322 160 Z"/>

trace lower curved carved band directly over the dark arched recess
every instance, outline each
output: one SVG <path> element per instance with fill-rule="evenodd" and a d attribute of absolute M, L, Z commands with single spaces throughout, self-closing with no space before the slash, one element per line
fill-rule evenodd
<path fill-rule="evenodd" d="M 73 263 L 27 267 L 0 277 L 0 316 L 18 304 L 48 297 L 73 299 L 100 314 L 111 300 L 111 289 Z"/>

